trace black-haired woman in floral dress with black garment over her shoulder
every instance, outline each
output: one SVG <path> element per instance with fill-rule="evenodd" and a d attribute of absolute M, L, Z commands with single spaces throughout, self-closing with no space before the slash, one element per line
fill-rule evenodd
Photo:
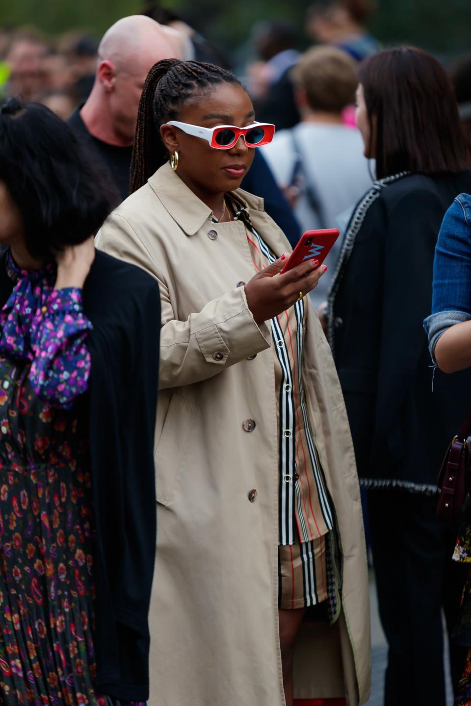
<path fill-rule="evenodd" d="M 8 99 L 0 144 L 0 702 L 142 702 L 158 286 L 95 253 L 107 191 L 63 121 Z"/>

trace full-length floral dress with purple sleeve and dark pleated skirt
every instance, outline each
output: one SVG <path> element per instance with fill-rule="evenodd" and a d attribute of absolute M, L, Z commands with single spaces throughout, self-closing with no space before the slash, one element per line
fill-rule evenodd
<path fill-rule="evenodd" d="M 101 706 L 93 650 L 88 428 L 92 328 L 53 265 L 0 312 L 0 704 Z"/>

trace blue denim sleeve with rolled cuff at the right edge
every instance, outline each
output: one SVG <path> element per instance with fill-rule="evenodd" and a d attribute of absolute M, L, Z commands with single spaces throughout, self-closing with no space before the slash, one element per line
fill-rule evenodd
<path fill-rule="evenodd" d="M 447 328 L 471 320 L 471 196 L 462 193 L 445 214 L 436 244 L 431 316 L 424 328 L 436 364 L 436 342 Z"/>

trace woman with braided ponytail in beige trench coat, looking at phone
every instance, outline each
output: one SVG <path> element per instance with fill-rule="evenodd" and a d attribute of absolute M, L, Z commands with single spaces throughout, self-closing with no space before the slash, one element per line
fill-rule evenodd
<path fill-rule="evenodd" d="M 354 453 L 306 297 L 322 268 L 280 275 L 285 236 L 239 189 L 272 136 L 229 71 L 158 62 L 133 193 L 97 236 L 160 285 L 152 706 L 369 695 Z"/>

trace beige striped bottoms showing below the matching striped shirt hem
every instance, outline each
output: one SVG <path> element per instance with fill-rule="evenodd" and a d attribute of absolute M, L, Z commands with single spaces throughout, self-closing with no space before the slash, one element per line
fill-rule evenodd
<path fill-rule="evenodd" d="M 328 599 L 326 537 L 278 547 L 278 607 L 309 608 Z"/>

